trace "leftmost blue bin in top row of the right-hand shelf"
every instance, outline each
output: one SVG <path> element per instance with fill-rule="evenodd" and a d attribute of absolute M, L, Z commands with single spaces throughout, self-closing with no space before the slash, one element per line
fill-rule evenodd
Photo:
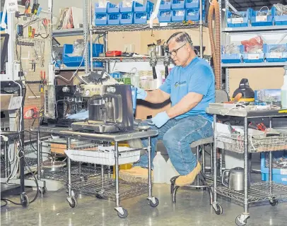
<path fill-rule="evenodd" d="M 233 18 L 233 13 L 228 10 L 225 11 L 225 18 L 228 28 L 248 27 L 250 9 L 247 9 L 247 11 L 238 11 L 236 14 L 239 14 L 241 17 Z"/>

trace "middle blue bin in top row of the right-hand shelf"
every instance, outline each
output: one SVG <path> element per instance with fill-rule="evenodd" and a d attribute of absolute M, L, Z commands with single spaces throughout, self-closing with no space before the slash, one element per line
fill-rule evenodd
<path fill-rule="evenodd" d="M 257 16 L 259 13 L 267 13 L 268 16 Z M 253 9 L 250 9 L 250 23 L 252 26 L 257 27 L 257 26 L 271 26 L 273 25 L 273 17 L 275 13 L 275 8 L 272 7 L 271 10 L 262 10 L 262 11 L 254 11 Z M 264 18 L 266 20 L 264 20 Z"/>

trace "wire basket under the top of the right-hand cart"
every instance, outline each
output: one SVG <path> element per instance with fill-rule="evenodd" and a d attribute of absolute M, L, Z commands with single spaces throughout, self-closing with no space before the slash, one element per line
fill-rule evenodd
<path fill-rule="evenodd" d="M 244 153 L 243 134 L 217 133 L 216 148 L 230 150 L 235 153 Z M 264 151 L 276 151 L 287 149 L 287 133 L 280 136 L 248 136 L 248 152 L 260 153 Z"/>

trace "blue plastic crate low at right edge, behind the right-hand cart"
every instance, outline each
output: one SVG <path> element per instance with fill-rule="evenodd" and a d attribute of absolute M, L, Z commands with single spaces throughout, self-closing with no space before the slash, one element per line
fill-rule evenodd
<path fill-rule="evenodd" d="M 287 150 L 273 152 L 273 159 L 281 157 L 287 158 Z M 269 181 L 269 168 L 266 167 L 266 159 L 269 159 L 269 153 L 261 153 L 261 177 L 262 181 Z M 272 181 L 287 185 L 287 169 L 272 169 Z"/>

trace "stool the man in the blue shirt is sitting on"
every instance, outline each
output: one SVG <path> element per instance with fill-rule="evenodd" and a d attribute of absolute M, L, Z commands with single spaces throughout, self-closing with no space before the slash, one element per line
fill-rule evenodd
<path fill-rule="evenodd" d="M 199 154 L 200 154 L 200 147 L 204 147 L 204 145 L 206 144 L 210 144 L 213 143 L 213 136 L 209 137 L 209 138 L 202 138 L 199 141 L 194 141 L 191 145 L 190 148 L 197 148 L 197 162 L 199 162 Z M 188 187 L 192 187 L 192 188 L 196 188 L 196 189 L 208 189 L 209 191 L 209 198 L 210 198 L 210 204 L 212 204 L 212 190 L 211 190 L 211 186 L 213 186 L 212 184 L 207 184 L 206 182 L 206 177 L 204 174 L 205 171 L 205 154 L 204 154 L 204 148 L 202 149 L 202 169 L 201 172 L 199 172 L 199 174 L 197 175 L 197 177 L 194 179 L 194 182 L 192 184 L 187 185 Z M 212 153 L 212 150 L 211 150 Z M 211 156 L 211 162 L 212 162 L 212 156 Z M 212 165 L 211 165 L 211 171 L 212 171 Z M 177 189 L 180 186 L 176 186 L 175 185 L 175 180 L 177 179 L 177 177 L 172 177 L 172 179 L 170 179 L 170 193 L 172 194 L 172 202 L 175 203 L 175 196 L 177 193 Z"/>

